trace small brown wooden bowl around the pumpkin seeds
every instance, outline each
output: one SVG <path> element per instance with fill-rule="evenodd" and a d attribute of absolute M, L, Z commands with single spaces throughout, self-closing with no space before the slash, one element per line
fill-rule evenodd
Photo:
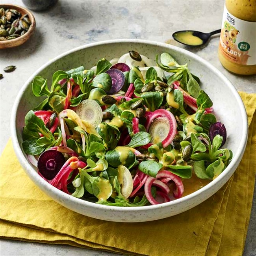
<path fill-rule="evenodd" d="M 35 31 L 35 17 L 30 11 L 28 11 L 28 9 L 21 6 L 16 6 L 13 4 L 0 4 L 0 7 L 3 7 L 4 9 L 16 9 L 20 12 L 22 16 L 28 14 L 28 17 L 31 21 L 30 28 L 24 35 L 21 35 L 20 37 L 17 37 L 15 39 L 0 41 L 0 49 L 13 48 L 24 44 L 26 41 L 28 41 L 28 39 Z"/>

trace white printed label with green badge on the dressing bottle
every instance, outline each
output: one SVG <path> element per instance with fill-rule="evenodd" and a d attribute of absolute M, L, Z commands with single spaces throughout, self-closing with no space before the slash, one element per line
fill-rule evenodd
<path fill-rule="evenodd" d="M 220 49 L 236 64 L 256 65 L 256 22 L 236 18 L 224 7 Z"/>

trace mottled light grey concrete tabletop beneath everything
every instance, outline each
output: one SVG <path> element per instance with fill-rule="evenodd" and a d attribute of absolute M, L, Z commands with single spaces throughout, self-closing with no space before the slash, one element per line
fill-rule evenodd
<path fill-rule="evenodd" d="M 2 0 L 2 4 L 24 6 L 22 1 Z M 87 43 L 108 39 L 148 39 L 169 42 L 206 59 L 234 84 L 238 91 L 255 93 L 255 76 L 237 76 L 225 70 L 217 57 L 219 35 L 206 46 L 191 48 L 171 39 L 178 30 L 211 32 L 221 28 L 224 1 L 94 1 L 59 0 L 48 11 L 32 11 L 36 30 L 24 45 L 1 50 L 1 152 L 10 137 L 10 112 L 19 89 L 39 67 L 50 59 Z M 12 73 L 4 67 L 16 65 Z M 244 255 L 256 255 L 256 199 L 249 223 Z M 118 255 L 66 245 L 46 245 L 1 240 L 1 255 Z"/>

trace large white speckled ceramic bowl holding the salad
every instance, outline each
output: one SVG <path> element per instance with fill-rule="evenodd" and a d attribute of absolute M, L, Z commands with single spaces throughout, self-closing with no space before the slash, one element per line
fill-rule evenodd
<path fill-rule="evenodd" d="M 230 148 L 234 154 L 231 163 L 223 173 L 200 190 L 171 202 L 137 208 L 105 206 L 67 195 L 48 184 L 37 174 L 21 147 L 24 117 L 41 100 L 34 97 L 32 93 L 34 76 L 41 75 L 51 81 L 52 74 L 56 70 L 69 70 L 80 65 L 89 69 L 96 64 L 98 59 L 119 57 L 129 50 L 135 50 L 152 59 L 155 59 L 156 54 L 169 52 L 179 63 L 188 63 L 191 72 L 199 76 L 202 89 L 212 99 L 217 120 L 224 122 L 228 134 L 225 146 Z M 70 210 L 89 217 L 117 222 L 163 219 L 189 210 L 211 197 L 228 181 L 241 161 L 247 142 L 247 132 L 247 115 L 243 102 L 232 83 L 219 70 L 184 49 L 164 43 L 131 39 L 84 45 L 49 61 L 37 70 L 22 87 L 13 106 L 11 118 L 11 134 L 17 157 L 28 176 L 40 189 Z"/>

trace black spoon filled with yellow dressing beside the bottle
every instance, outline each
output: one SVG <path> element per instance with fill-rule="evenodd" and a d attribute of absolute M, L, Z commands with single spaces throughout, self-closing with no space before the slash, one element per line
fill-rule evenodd
<path fill-rule="evenodd" d="M 203 33 L 194 30 L 181 30 L 173 33 L 173 38 L 179 43 L 189 46 L 200 46 L 207 43 L 208 39 L 217 33 L 221 33 L 221 29 L 210 33 Z"/>

